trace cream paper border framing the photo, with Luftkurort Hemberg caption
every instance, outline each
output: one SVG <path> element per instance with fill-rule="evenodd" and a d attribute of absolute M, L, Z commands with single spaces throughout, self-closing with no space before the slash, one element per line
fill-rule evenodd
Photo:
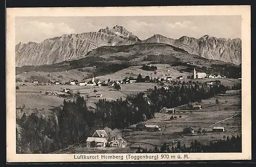
<path fill-rule="evenodd" d="M 250 6 L 172 6 L 172 7 L 96 7 L 96 8 L 7 8 L 6 12 L 6 105 L 8 162 L 116 161 L 115 159 L 74 159 L 75 154 L 16 154 L 15 150 L 15 17 L 16 16 L 184 16 L 241 15 L 242 17 L 242 153 L 181 153 L 189 159 L 169 160 L 248 160 L 251 159 L 251 43 Z M 226 30 L 228 31 L 228 30 Z M 157 153 L 158 157 L 162 153 Z M 80 154 L 77 154 L 80 155 Z M 99 155 L 102 154 L 87 154 Z M 111 154 L 113 155 L 113 154 Z M 122 161 L 135 161 L 126 159 Z M 135 154 L 133 154 L 135 155 Z M 143 155 L 143 154 L 141 154 Z M 150 155 L 150 154 L 147 154 Z M 154 159 L 141 159 L 155 161 Z M 167 160 L 167 159 L 158 159 Z M 120 161 L 120 160 L 119 160 Z"/>

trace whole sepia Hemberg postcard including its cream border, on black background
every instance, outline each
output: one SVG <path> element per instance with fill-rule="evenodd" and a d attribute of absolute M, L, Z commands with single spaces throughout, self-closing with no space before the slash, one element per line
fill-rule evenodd
<path fill-rule="evenodd" d="M 7 10 L 9 158 L 250 159 L 250 8 L 162 8 Z"/>

